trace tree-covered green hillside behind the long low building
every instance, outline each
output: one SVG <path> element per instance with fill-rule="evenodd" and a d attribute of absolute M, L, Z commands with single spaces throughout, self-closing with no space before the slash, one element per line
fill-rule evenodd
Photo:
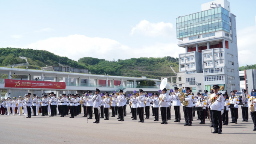
<path fill-rule="evenodd" d="M 163 58 L 131 58 L 117 61 L 106 61 L 97 58 L 80 58 L 77 61 L 67 57 L 54 55 L 45 50 L 0 48 L 0 66 L 19 64 L 26 62 L 19 56 L 27 57 L 29 68 L 37 66 L 46 67 L 46 65 L 67 65 L 74 68 L 88 69 L 92 74 L 109 74 L 113 76 L 130 76 L 160 79 L 163 76 L 174 76 L 170 66 L 178 72 L 178 58 L 170 56 Z M 24 68 L 18 67 L 18 68 Z"/>

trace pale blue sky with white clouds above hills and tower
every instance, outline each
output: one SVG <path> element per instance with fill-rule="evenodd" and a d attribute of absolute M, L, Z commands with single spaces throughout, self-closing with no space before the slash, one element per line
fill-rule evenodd
<path fill-rule="evenodd" d="M 185 50 L 177 46 L 175 18 L 201 11 L 206 2 L 0 1 L 0 47 L 47 50 L 76 61 L 177 57 Z M 229 2 L 237 16 L 239 66 L 255 64 L 249 57 L 256 53 L 256 1 Z"/>

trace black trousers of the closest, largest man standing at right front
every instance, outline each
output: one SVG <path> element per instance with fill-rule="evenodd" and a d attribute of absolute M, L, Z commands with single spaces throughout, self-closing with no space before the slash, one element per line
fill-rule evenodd
<path fill-rule="evenodd" d="M 213 119 L 213 129 L 215 132 L 222 132 L 221 111 L 211 110 Z"/>

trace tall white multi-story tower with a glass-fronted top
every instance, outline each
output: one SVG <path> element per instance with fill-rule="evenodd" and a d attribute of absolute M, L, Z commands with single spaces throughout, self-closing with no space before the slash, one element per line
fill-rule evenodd
<path fill-rule="evenodd" d="M 236 16 L 227 0 L 201 5 L 201 12 L 176 18 L 180 72 L 185 86 L 193 92 L 210 91 L 217 84 L 220 91 L 240 90 Z"/>

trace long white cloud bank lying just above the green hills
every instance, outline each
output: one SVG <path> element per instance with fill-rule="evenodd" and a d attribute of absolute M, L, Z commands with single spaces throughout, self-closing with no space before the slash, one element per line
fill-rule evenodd
<path fill-rule="evenodd" d="M 47 50 L 55 55 L 66 56 L 75 61 L 83 57 L 106 59 L 108 61 L 140 57 L 162 58 L 164 56 L 172 56 L 177 58 L 178 53 L 185 52 L 185 49 L 178 47 L 176 43 L 156 43 L 133 48 L 120 44 L 120 42 L 113 39 L 90 38 L 84 35 L 48 38 L 21 48 Z"/>

